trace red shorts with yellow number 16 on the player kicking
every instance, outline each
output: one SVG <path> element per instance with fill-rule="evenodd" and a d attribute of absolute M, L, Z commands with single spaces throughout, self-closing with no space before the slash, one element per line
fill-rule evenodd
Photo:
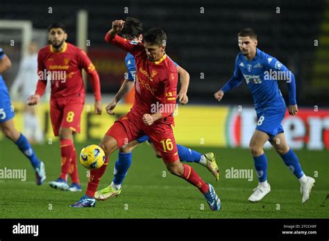
<path fill-rule="evenodd" d="M 106 132 L 107 136 L 112 136 L 117 140 L 118 148 L 144 134 L 149 136 L 155 148 L 161 153 L 163 161 L 173 162 L 179 160 L 174 132 L 170 124 L 155 122 L 147 126 L 144 124 L 142 117 L 136 118 L 128 112 L 126 116 L 115 121 Z"/>

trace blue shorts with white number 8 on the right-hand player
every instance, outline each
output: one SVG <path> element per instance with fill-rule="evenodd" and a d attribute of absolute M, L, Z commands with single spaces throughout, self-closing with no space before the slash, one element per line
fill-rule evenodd
<path fill-rule="evenodd" d="M 285 106 L 282 105 L 277 107 L 277 109 L 264 109 L 257 113 L 258 123 L 256 125 L 256 130 L 267 133 L 271 141 L 274 136 L 284 132 L 281 123 L 285 117 L 285 111 Z"/>

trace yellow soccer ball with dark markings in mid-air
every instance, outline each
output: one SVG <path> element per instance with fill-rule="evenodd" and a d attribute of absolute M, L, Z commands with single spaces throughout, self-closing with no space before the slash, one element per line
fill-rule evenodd
<path fill-rule="evenodd" d="M 98 169 L 103 166 L 105 153 L 99 145 L 86 145 L 80 153 L 80 162 L 87 169 Z"/>

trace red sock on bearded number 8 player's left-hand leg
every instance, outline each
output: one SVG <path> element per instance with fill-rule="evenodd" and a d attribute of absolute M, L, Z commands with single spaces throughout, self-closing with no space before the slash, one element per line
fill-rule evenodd
<path fill-rule="evenodd" d="M 62 167 L 60 178 L 67 181 L 67 174 L 71 164 L 72 155 L 74 152 L 74 145 L 71 139 L 60 140 L 60 156 L 62 157 Z"/>

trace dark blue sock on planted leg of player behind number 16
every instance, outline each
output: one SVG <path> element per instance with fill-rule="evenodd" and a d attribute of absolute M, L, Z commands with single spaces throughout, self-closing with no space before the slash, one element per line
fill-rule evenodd
<path fill-rule="evenodd" d="M 131 159 L 133 154 L 121 153 L 119 152 L 119 158 L 115 162 L 115 177 L 113 178 L 113 183 L 116 185 L 121 185 L 124 181 L 124 178 L 127 175 L 128 169 L 131 165 Z"/>

